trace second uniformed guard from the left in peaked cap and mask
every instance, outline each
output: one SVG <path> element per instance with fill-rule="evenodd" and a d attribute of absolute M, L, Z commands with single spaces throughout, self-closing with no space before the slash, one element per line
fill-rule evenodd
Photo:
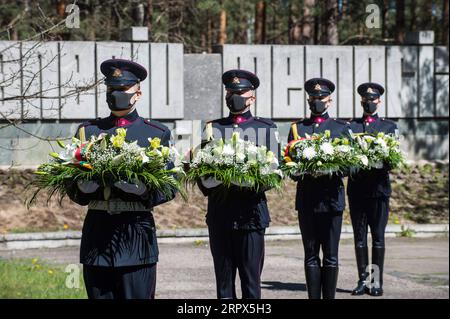
<path fill-rule="evenodd" d="M 256 145 L 266 145 L 279 158 L 277 126 L 255 117 L 254 104 L 259 79 L 251 72 L 230 70 L 222 75 L 226 89 L 227 117 L 206 124 L 202 144 L 212 139 L 230 139 L 234 132 Z M 208 197 L 208 224 L 211 254 L 216 275 L 217 297 L 236 298 L 235 279 L 239 272 L 242 298 L 261 298 L 264 262 L 264 233 L 270 217 L 264 191 L 245 185 L 225 188 L 213 179 L 203 179 L 199 188 Z"/>

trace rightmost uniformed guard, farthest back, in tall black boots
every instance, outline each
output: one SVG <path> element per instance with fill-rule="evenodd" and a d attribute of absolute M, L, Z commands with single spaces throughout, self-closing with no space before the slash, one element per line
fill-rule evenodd
<path fill-rule="evenodd" d="M 363 83 L 358 86 L 358 94 L 361 95 L 361 106 L 364 111 L 361 118 L 354 119 L 350 123 L 354 133 L 377 134 L 383 132 L 398 135 L 395 122 L 378 116 L 377 111 L 381 105 L 380 97 L 383 93 L 384 88 L 377 83 Z M 389 167 L 352 175 L 348 180 L 347 195 L 359 276 L 357 287 L 352 291 L 352 294 L 363 295 L 368 293 L 372 296 L 381 296 L 383 294 L 385 252 L 384 232 L 388 222 L 389 198 L 391 195 Z M 372 266 L 376 265 L 379 270 L 375 270 L 374 282 L 371 285 L 366 282 L 369 276 L 367 269 L 369 265 L 368 226 L 372 234 Z"/>

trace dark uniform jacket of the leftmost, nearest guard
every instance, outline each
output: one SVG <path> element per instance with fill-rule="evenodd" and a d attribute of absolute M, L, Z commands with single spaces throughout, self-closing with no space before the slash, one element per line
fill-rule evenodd
<path fill-rule="evenodd" d="M 127 130 L 127 140 L 136 140 L 141 147 L 148 146 L 148 138 L 154 137 L 159 137 L 161 144 L 169 145 L 170 130 L 157 121 L 140 117 L 137 111 L 120 118 L 111 114 L 106 118 L 85 122 L 79 126 L 76 136 L 80 137 L 81 128 L 85 132 L 86 139 L 89 139 L 91 135 L 99 135 L 103 132 L 115 134 L 115 130 L 119 127 Z M 68 185 L 68 195 L 80 205 L 87 205 L 91 200 L 104 200 L 101 187 L 94 193 L 85 194 L 75 183 Z M 80 262 L 107 267 L 157 262 L 158 245 L 151 210 L 174 196 L 175 191 L 169 198 L 158 192 L 137 197 L 112 187 L 111 198 L 141 202 L 146 210 L 115 215 L 105 211 L 88 210 L 82 230 Z"/>

